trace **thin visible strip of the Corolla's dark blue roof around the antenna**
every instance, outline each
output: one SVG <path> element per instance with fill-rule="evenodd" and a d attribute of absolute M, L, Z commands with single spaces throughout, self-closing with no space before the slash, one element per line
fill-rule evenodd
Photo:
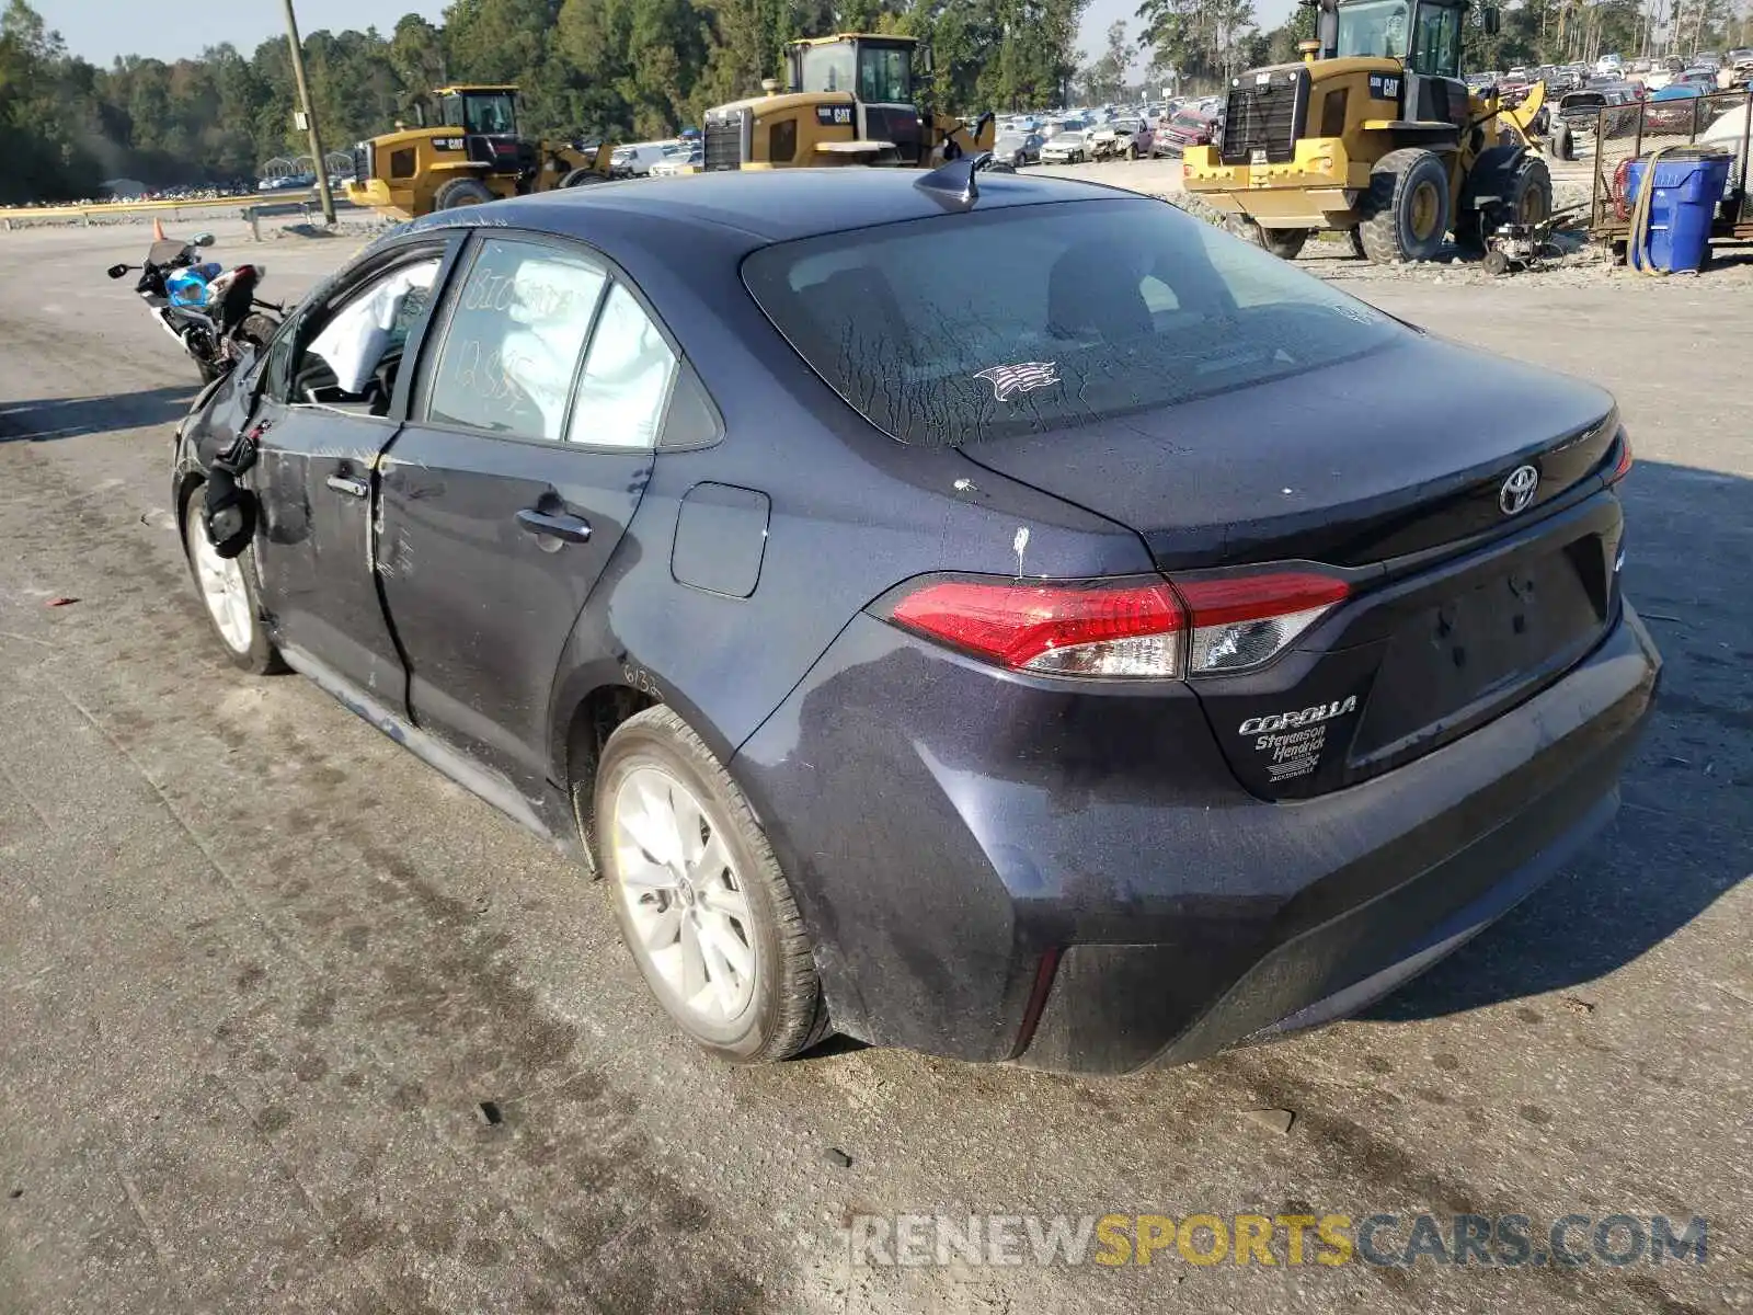
<path fill-rule="evenodd" d="M 503 205 L 510 223 L 556 231 L 571 228 L 568 217 L 582 221 L 591 212 L 615 210 L 633 217 L 736 228 L 784 242 L 943 214 L 940 195 L 913 186 L 922 177 L 924 170 L 915 168 L 724 170 L 564 188 Z M 1136 193 L 1050 175 L 980 174 L 975 209 L 1127 196 Z M 521 212 L 517 217 L 514 209 Z"/>

